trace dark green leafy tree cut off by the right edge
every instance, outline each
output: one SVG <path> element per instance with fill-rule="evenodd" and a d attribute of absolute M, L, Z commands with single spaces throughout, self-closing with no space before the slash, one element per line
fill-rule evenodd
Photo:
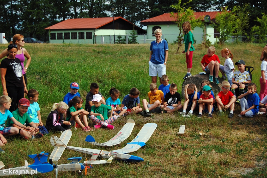
<path fill-rule="evenodd" d="M 266 34 L 267 34 L 267 15 L 262 13 L 262 18 L 257 18 L 257 22 L 260 24 L 259 26 L 254 25 L 251 28 L 250 35 L 251 38 L 255 39 L 256 42 L 258 43 L 263 43 L 265 42 L 266 39 Z M 256 37 L 253 37 L 253 35 L 257 35 Z"/>

